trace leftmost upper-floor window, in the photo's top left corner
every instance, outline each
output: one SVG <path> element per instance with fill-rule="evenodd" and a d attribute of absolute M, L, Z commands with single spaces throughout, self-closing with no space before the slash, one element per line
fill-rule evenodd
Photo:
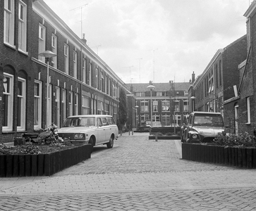
<path fill-rule="evenodd" d="M 4 0 L 4 42 L 14 46 L 14 0 Z"/>

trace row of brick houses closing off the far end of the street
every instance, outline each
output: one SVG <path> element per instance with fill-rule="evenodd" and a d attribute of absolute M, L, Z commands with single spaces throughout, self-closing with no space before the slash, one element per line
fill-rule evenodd
<path fill-rule="evenodd" d="M 161 122 L 163 126 L 181 124 L 183 115 L 188 115 L 189 82 L 126 84 L 132 94 L 128 96 L 128 124 L 140 127 L 145 121 Z"/>

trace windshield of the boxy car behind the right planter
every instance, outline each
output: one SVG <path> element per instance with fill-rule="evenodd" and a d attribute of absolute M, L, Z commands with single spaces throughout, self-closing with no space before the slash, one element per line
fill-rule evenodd
<path fill-rule="evenodd" d="M 217 126 L 223 127 L 223 120 L 221 116 L 195 116 L 194 125 L 207 125 L 207 126 Z"/>

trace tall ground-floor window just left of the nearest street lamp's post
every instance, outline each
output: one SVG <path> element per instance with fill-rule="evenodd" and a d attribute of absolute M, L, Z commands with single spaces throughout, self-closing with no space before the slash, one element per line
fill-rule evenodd
<path fill-rule="evenodd" d="M 34 128 L 42 128 L 42 82 L 35 81 Z"/>

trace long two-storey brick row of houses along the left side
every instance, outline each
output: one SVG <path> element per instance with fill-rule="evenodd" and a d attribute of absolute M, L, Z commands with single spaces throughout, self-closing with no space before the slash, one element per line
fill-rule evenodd
<path fill-rule="evenodd" d="M 69 115 L 118 118 L 126 85 L 42 0 L 0 1 L 0 141 Z M 52 51 L 47 63 L 39 53 Z M 47 110 L 47 101 L 49 109 Z M 48 120 L 46 116 L 48 115 Z"/>

